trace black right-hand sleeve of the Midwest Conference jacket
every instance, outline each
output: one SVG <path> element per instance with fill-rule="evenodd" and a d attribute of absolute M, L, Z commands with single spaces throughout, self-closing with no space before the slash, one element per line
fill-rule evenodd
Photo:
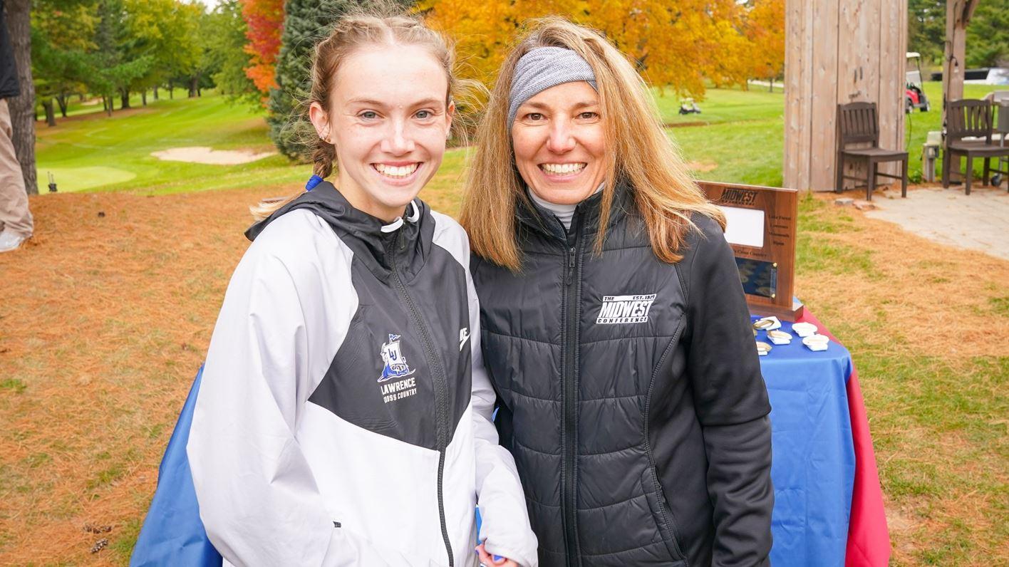
<path fill-rule="evenodd" d="M 714 506 L 714 566 L 762 565 L 771 550 L 770 405 L 732 248 L 702 219 L 688 275 L 687 371 Z"/>

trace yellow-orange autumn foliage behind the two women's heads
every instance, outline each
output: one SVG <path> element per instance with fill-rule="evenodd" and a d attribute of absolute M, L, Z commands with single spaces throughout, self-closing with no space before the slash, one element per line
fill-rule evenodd
<path fill-rule="evenodd" d="M 606 35 L 653 85 L 701 96 L 753 77 L 748 7 L 736 0 L 421 0 L 456 40 L 471 78 L 489 84 L 523 23 L 562 14 Z"/>

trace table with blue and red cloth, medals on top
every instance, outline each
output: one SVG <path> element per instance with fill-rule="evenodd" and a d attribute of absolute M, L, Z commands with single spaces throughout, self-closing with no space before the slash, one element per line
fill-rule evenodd
<path fill-rule="evenodd" d="M 761 356 L 771 401 L 771 564 L 885 566 L 890 536 L 852 357 L 808 310 L 797 322 L 831 342 L 811 351 L 783 322 L 792 342 Z M 766 331 L 756 339 L 771 342 Z"/>

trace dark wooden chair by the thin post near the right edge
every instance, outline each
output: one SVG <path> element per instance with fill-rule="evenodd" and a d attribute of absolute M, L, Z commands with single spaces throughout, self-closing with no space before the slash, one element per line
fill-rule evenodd
<path fill-rule="evenodd" d="M 985 160 L 982 185 L 988 185 L 992 172 L 1009 175 L 1009 172 L 991 166 L 993 157 L 1009 156 L 1009 146 L 992 142 L 992 101 L 961 99 L 946 103 L 945 151 L 942 152 L 942 187 L 949 187 L 952 160 L 957 173 L 964 178 L 964 191 L 971 194 L 974 179 L 974 158 Z M 968 138 L 968 139 L 965 139 Z M 961 174 L 961 157 L 967 157 L 967 172 Z"/>

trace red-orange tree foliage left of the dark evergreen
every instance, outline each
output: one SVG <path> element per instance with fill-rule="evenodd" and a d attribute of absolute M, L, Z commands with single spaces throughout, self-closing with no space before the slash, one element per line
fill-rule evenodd
<path fill-rule="evenodd" d="M 276 55 L 281 51 L 281 32 L 284 30 L 284 0 L 241 0 L 242 17 L 249 42 L 245 52 L 250 55 L 245 75 L 256 89 L 266 95 L 276 88 Z"/>

